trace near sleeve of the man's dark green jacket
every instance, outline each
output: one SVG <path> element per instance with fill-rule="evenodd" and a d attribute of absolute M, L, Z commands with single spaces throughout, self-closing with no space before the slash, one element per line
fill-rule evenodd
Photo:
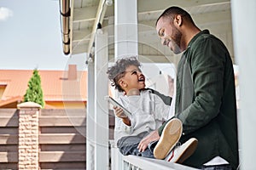
<path fill-rule="evenodd" d="M 191 105 L 176 115 L 183 122 L 185 134 L 218 116 L 224 95 L 225 57 L 229 55 L 224 44 L 214 37 L 203 38 L 189 53 L 193 99 Z"/>

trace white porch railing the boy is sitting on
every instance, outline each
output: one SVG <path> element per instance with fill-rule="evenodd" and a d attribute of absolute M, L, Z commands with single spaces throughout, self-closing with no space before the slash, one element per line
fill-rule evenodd
<path fill-rule="evenodd" d="M 111 145 L 111 170 L 195 170 L 193 167 L 183 166 L 164 160 L 145 158 L 141 156 L 122 156 L 119 150 Z"/>

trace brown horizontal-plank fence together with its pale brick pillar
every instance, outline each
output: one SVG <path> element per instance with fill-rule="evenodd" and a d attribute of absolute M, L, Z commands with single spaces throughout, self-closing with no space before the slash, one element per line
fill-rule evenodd
<path fill-rule="evenodd" d="M 0 169 L 86 169 L 86 109 L 0 109 Z"/>

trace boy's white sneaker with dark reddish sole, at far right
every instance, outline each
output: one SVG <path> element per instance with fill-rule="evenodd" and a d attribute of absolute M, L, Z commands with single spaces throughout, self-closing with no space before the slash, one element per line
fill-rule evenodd
<path fill-rule="evenodd" d="M 197 146 L 197 139 L 191 138 L 184 144 L 180 146 L 175 146 L 175 148 L 166 156 L 165 160 L 174 163 L 183 163 L 189 156 L 195 152 Z"/>

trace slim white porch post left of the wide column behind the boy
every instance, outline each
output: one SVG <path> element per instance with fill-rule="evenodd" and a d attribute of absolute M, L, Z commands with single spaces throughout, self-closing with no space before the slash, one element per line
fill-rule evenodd
<path fill-rule="evenodd" d="M 98 29 L 95 40 L 95 169 L 109 168 L 108 144 L 108 31 Z"/>

